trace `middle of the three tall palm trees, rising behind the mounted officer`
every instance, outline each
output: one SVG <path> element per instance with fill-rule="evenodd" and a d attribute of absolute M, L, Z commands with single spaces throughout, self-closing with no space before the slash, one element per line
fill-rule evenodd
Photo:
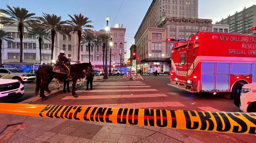
<path fill-rule="evenodd" d="M 61 31 L 61 27 L 63 24 L 66 24 L 65 21 L 61 21 L 61 16 L 57 16 L 55 14 L 46 14 L 43 13 L 43 16 L 36 17 L 38 21 L 41 22 L 42 26 L 46 28 L 47 31 L 51 30 L 51 38 L 52 38 L 52 54 L 51 54 L 51 64 L 53 59 L 53 49 L 54 49 L 54 39 L 56 35 L 56 31 Z"/>

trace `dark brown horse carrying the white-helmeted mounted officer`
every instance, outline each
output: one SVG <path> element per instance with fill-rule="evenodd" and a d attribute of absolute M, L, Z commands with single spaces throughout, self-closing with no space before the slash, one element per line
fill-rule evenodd
<path fill-rule="evenodd" d="M 36 91 L 35 95 L 38 94 L 40 89 L 40 97 L 42 97 L 42 100 L 47 100 L 48 98 L 44 94 L 44 90 L 48 91 L 48 85 L 52 81 L 53 78 L 56 78 L 58 80 L 66 80 L 66 74 L 53 72 L 53 66 L 47 65 L 42 66 L 38 68 L 36 73 Z M 92 71 L 92 65 L 91 63 L 80 63 L 80 64 L 74 64 L 70 66 L 70 76 L 72 76 L 72 95 L 74 97 L 78 97 L 75 93 L 75 86 L 77 79 L 80 78 L 81 73 L 83 71 L 86 71 L 86 75 L 89 76 L 90 72 Z"/>

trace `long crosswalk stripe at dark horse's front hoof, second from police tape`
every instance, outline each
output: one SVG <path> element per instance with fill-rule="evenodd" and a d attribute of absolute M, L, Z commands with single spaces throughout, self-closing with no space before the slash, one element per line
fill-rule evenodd
<path fill-rule="evenodd" d="M 93 96 L 79 96 L 74 98 L 73 96 L 66 96 L 61 100 L 67 99 L 99 99 L 99 98 L 144 98 L 144 97 L 164 97 L 165 94 L 138 94 L 138 95 L 93 95 Z"/>

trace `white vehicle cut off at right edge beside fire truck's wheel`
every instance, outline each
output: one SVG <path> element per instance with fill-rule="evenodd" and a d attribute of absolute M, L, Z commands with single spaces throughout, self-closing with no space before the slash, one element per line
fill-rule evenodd
<path fill-rule="evenodd" d="M 256 112 L 256 83 L 242 86 L 240 95 L 240 109 L 244 112 Z"/>

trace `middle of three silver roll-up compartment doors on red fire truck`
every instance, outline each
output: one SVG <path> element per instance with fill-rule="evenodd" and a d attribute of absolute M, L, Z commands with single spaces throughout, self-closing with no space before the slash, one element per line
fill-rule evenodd
<path fill-rule="evenodd" d="M 229 90 L 230 63 L 217 63 L 216 90 Z"/>

